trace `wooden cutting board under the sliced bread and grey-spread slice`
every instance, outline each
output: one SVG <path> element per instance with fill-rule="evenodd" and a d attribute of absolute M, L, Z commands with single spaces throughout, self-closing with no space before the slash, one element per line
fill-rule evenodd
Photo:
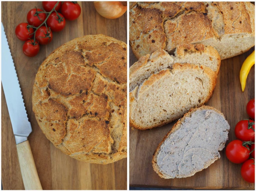
<path fill-rule="evenodd" d="M 247 119 L 246 104 L 254 98 L 254 66 L 247 78 L 245 91 L 241 91 L 239 72 L 243 61 L 252 53 L 254 47 L 239 56 L 221 61 L 215 92 L 206 105 L 220 110 L 229 122 L 229 143 L 236 139 L 234 127 L 242 119 Z M 130 66 L 137 59 L 130 48 Z M 176 122 L 176 121 L 175 121 Z M 152 156 L 158 144 L 170 131 L 174 123 L 152 130 L 141 131 L 130 128 L 130 186 L 167 187 L 192 189 L 254 189 L 240 174 L 241 164 L 229 162 L 225 148 L 220 151 L 221 158 L 208 168 L 187 178 L 160 178 L 152 167 Z M 226 145 L 227 145 L 226 143 Z"/>

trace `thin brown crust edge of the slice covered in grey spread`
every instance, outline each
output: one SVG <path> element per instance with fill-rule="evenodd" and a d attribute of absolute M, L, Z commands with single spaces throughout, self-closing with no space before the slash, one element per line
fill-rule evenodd
<path fill-rule="evenodd" d="M 220 114 L 221 116 L 223 116 L 223 118 L 225 119 L 224 115 L 219 111 L 217 110 L 216 108 L 214 107 L 211 107 L 211 106 L 206 106 L 206 105 L 202 105 L 201 107 L 199 108 L 191 108 L 188 113 L 184 114 L 184 116 L 182 118 L 180 118 L 172 127 L 172 129 L 166 134 L 166 136 L 163 138 L 163 140 L 159 143 L 157 149 L 155 150 L 154 154 L 153 154 L 153 159 L 152 159 L 152 166 L 153 166 L 153 169 L 154 171 L 161 177 L 161 178 L 167 178 L 166 176 L 164 176 L 160 170 L 159 170 L 159 166 L 157 165 L 157 155 L 160 151 L 160 147 L 161 145 L 164 143 L 164 141 L 169 137 L 170 134 L 174 133 L 175 131 L 177 131 L 180 126 L 182 125 L 182 123 L 185 121 L 185 118 L 186 117 L 190 117 L 192 113 L 194 113 L 195 111 L 197 110 L 214 110 L 216 111 L 218 114 Z M 208 166 L 210 166 L 212 163 L 214 163 L 214 161 L 216 161 L 218 158 L 214 158 L 213 160 L 211 160 L 209 163 L 206 163 L 204 165 L 204 168 L 207 168 Z M 204 169 L 202 168 L 202 170 Z M 201 171 L 202 171 L 201 170 Z M 195 173 L 193 174 L 189 174 L 188 176 L 192 176 L 194 175 Z"/>

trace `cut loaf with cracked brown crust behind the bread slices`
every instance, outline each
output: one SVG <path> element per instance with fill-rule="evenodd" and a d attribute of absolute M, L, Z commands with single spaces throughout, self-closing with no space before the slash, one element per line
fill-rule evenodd
<path fill-rule="evenodd" d="M 203 43 L 216 48 L 223 60 L 254 46 L 254 28 L 250 2 L 130 4 L 129 42 L 138 59 L 157 49 L 173 53 L 181 43 Z"/>

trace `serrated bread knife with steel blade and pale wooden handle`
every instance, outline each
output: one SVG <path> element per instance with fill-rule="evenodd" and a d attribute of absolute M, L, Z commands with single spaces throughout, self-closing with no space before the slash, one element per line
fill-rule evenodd
<path fill-rule="evenodd" d="M 3 23 L 1 24 L 1 80 L 15 136 L 23 184 L 26 190 L 42 190 L 28 142 L 28 136 L 32 132 L 32 128 L 28 121 L 17 73 L 4 32 L 4 26 Z"/>

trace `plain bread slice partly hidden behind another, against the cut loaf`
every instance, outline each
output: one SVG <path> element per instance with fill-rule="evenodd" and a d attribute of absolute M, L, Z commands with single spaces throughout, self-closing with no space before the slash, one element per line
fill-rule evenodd
<path fill-rule="evenodd" d="M 174 55 L 169 55 L 163 49 L 159 49 L 151 56 L 147 54 L 141 57 L 130 67 L 130 91 L 152 74 L 163 69 L 171 69 L 174 63 L 204 65 L 218 74 L 221 59 L 216 49 L 203 44 L 179 44 Z"/>

